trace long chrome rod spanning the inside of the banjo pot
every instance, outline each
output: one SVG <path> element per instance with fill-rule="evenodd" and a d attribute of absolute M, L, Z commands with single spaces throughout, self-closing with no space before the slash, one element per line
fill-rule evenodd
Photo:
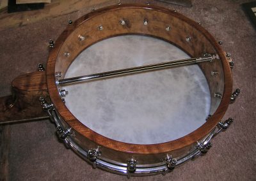
<path fill-rule="evenodd" d="M 191 59 L 182 59 L 179 61 L 169 61 L 163 62 L 158 64 L 150 64 L 146 66 L 138 66 L 134 68 L 127 68 L 127 69 L 118 69 L 115 71 L 106 71 L 102 73 L 95 73 L 91 75 L 84 75 L 84 76 L 76 76 L 72 78 L 64 78 L 58 80 L 58 85 L 65 85 L 69 83 L 77 83 L 77 82 L 86 82 L 89 80 L 97 80 L 100 78 L 109 78 L 113 76 L 120 76 L 120 75 L 128 75 L 132 73 L 142 73 L 145 71 L 152 71 L 157 69 L 164 69 L 164 68 L 172 68 L 174 66 L 183 66 L 188 64 L 196 64 L 198 62 L 206 62 L 212 61 L 212 57 L 203 57 L 203 58 L 191 58 Z"/>

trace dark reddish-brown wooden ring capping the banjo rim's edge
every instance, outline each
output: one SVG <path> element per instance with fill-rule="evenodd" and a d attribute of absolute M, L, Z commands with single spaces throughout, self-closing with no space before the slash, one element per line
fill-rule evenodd
<path fill-rule="evenodd" d="M 74 116 L 70 116 L 72 114 L 68 113 L 65 115 L 62 115 L 65 120 L 67 120 L 68 124 L 76 129 L 77 132 L 83 134 L 90 132 L 89 139 L 94 141 L 95 143 L 103 146 L 108 147 L 113 150 L 117 150 L 120 152 L 127 152 L 127 153 L 134 153 L 134 154 L 159 154 L 163 152 L 172 152 L 173 150 L 179 150 L 180 148 L 187 147 L 188 145 L 191 145 L 195 143 L 198 140 L 201 140 L 206 136 L 208 133 L 211 132 L 212 129 L 220 122 L 221 118 L 227 111 L 229 102 L 230 102 L 230 95 L 232 93 L 232 74 L 230 71 L 230 67 L 227 61 L 227 58 L 225 57 L 225 52 L 221 50 L 220 45 L 214 40 L 214 38 L 211 36 L 211 34 L 206 31 L 201 25 L 198 25 L 196 22 L 190 20 L 189 18 L 185 17 L 184 15 L 181 15 L 180 13 L 168 10 L 166 8 L 162 8 L 159 6 L 153 6 L 153 5 L 145 5 L 145 4 L 123 4 L 123 5 L 117 5 L 117 6 L 109 6 L 106 8 L 102 8 L 100 10 L 88 13 L 87 15 L 79 18 L 76 22 L 74 22 L 73 25 L 68 26 L 65 31 L 60 35 L 58 40 L 56 41 L 55 47 L 52 48 L 49 59 L 47 62 L 47 87 L 49 90 L 49 95 L 52 99 L 52 102 L 56 106 L 58 110 L 58 106 L 63 106 L 61 103 L 61 98 L 58 96 L 58 90 L 55 84 L 55 78 L 54 78 L 54 69 L 55 64 L 54 61 L 56 60 L 56 57 L 58 55 L 58 50 L 60 50 L 61 45 L 65 41 L 65 39 L 68 37 L 70 33 L 74 29 L 76 29 L 77 26 L 79 26 L 81 23 L 85 22 L 86 20 L 95 17 L 97 15 L 100 15 L 106 11 L 115 11 L 120 10 L 122 8 L 141 8 L 141 9 L 147 9 L 152 11 L 161 11 L 163 13 L 168 13 L 172 15 L 173 17 L 177 17 L 180 20 L 183 20 L 184 22 L 192 25 L 197 29 L 198 31 L 202 32 L 204 36 L 209 40 L 213 47 L 216 48 L 216 52 L 220 56 L 222 65 L 223 65 L 223 71 L 225 73 L 225 85 L 224 85 L 224 93 L 223 98 L 221 99 L 220 106 L 216 110 L 216 112 L 212 115 L 212 117 L 205 122 L 204 125 L 193 131 L 192 133 L 179 138 L 177 140 L 169 141 L 166 143 L 159 143 L 159 144 L 152 144 L 152 145 L 136 145 L 136 144 L 130 144 L 130 143 L 123 143 L 120 141 L 111 140 L 109 138 L 106 138 L 98 133 L 95 133 L 88 127 L 84 126 L 77 120 Z M 69 111 L 68 111 L 69 112 Z M 78 125 L 78 126 L 77 126 Z M 85 134 L 83 134 L 85 135 Z M 88 138 L 88 137 L 87 137 Z M 157 148 L 157 149 L 156 149 Z"/>

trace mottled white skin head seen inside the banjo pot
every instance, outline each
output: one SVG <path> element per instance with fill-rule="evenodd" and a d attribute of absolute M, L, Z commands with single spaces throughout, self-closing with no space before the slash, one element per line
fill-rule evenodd
<path fill-rule="evenodd" d="M 147 36 L 118 36 L 84 50 L 65 78 L 189 58 Z M 195 131 L 209 115 L 211 96 L 197 65 L 66 85 L 65 105 L 85 126 L 134 144 L 172 141 Z"/>

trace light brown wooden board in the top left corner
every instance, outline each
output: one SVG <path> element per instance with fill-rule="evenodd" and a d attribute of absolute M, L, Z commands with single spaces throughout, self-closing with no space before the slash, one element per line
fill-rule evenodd
<path fill-rule="evenodd" d="M 52 0 L 52 3 L 45 4 L 45 8 L 36 11 L 23 11 L 17 13 L 7 13 L 7 10 L 0 12 L 0 31 L 12 27 L 19 27 L 44 20 L 54 18 L 60 15 L 67 15 L 75 11 L 90 11 L 92 8 L 99 8 L 110 4 L 116 4 L 116 1 L 107 0 Z"/>

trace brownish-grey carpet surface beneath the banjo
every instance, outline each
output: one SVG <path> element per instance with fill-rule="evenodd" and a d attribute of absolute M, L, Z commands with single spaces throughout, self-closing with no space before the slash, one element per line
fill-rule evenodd
<path fill-rule="evenodd" d="M 145 1 L 141 1 L 145 2 Z M 240 4 L 249 1 L 193 1 L 193 8 L 166 5 L 201 21 L 223 49 L 232 54 L 234 89 L 241 96 L 230 105 L 224 119 L 234 124 L 212 141 L 213 147 L 195 161 L 167 175 L 134 177 L 131 180 L 256 180 L 256 31 Z M 111 1 L 110 4 L 114 1 Z M 109 3 L 108 3 L 109 4 Z M 38 62 L 46 64 L 49 38 L 56 40 L 68 18 L 76 19 L 88 10 L 0 31 L 0 96 L 10 94 L 13 78 L 36 71 Z M 12 124 L 10 136 L 10 180 L 126 180 L 127 178 L 93 169 L 55 136 L 49 120 Z"/>

